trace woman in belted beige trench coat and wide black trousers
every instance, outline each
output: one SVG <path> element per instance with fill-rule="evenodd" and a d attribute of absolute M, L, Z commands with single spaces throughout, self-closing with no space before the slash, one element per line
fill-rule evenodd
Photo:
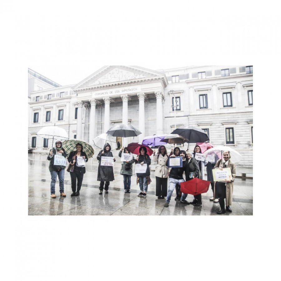
<path fill-rule="evenodd" d="M 158 199 L 164 199 L 167 196 L 167 182 L 168 182 L 168 154 L 166 147 L 160 145 L 157 155 L 153 151 L 153 161 L 157 162 L 155 167 L 155 180 L 156 180 L 156 196 Z"/>

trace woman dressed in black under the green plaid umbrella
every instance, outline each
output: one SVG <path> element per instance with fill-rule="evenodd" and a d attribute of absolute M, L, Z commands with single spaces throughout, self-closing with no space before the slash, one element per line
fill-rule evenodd
<path fill-rule="evenodd" d="M 86 173 L 85 164 L 83 166 L 78 166 L 77 157 L 82 157 L 85 162 L 88 161 L 86 153 L 83 151 L 83 145 L 81 143 L 76 144 L 76 151 L 71 151 L 67 160 L 69 163 L 74 164 L 70 169 L 71 177 L 71 196 L 80 195 L 80 190 L 82 186 L 83 176 Z M 77 191 L 76 191 L 76 181 L 77 181 Z"/>

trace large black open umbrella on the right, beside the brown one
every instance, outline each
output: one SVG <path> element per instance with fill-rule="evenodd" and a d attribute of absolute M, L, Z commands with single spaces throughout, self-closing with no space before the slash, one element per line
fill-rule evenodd
<path fill-rule="evenodd" d="M 171 132 L 171 134 L 178 134 L 185 139 L 188 139 L 188 147 L 189 143 L 196 143 L 196 142 L 204 142 L 209 141 L 208 135 L 200 128 L 196 128 L 193 126 L 186 126 L 186 127 L 180 127 L 175 129 Z"/>

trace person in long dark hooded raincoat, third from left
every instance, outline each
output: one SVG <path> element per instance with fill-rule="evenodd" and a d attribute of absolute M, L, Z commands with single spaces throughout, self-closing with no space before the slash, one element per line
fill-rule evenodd
<path fill-rule="evenodd" d="M 99 152 L 96 159 L 99 160 L 98 176 L 97 180 L 100 181 L 100 195 L 103 192 L 103 187 L 105 193 L 108 193 L 109 183 L 114 180 L 113 167 L 112 166 L 101 166 L 101 157 L 113 157 L 111 152 L 111 146 L 106 143 L 103 150 Z M 115 162 L 115 158 L 113 159 Z"/>

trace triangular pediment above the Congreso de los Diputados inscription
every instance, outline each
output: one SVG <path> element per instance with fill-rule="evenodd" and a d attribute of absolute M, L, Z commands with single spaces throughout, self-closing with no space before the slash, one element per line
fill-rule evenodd
<path fill-rule="evenodd" d="M 123 83 L 125 81 L 136 81 L 152 77 L 162 77 L 164 74 L 158 71 L 135 67 L 135 66 L 106 66 L 96 71 L 73 89 L 88 88 L 100 85 Z"/>

